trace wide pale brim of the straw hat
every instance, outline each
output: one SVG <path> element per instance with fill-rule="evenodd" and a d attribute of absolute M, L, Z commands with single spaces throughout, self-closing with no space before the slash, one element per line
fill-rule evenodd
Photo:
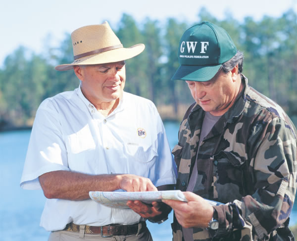
<path fill-rule="evenodd" d="M 74 60 L 71 64 L 60 64 L 55 67 L 58 71 L 73 69 L 74 65 L 93 65 L 103 63 L 114 63 L 132 58 L 140 54 L 145 49 L 144 44 L 134 45 L 130 48 L 116 48 L 104 51 L 98 54 L 93 54 L 87 57 L 82 57 Z"/>

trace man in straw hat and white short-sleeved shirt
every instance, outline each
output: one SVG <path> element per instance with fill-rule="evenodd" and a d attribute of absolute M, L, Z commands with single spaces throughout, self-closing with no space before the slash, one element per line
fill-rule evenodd
<path fill-rule="evenodd" d="M 123 91 L 125 60 L 145 46 L 123 48 L 105 22 L 71 34 L 78 89 L 44 100 L 36 113 L 21 187 L 43 189 L 48 198 L 40 225 L 49 240 L 150 241 L 146 218 L 162 223 L 171 208 L 142 204 L 102 206 L 90 191 L 172 189 L 176 167 L 154 104 Z M 141 204 L 139 202 L 135 202 Z M 144 218 L 145 217 L 145 218 Z"/>

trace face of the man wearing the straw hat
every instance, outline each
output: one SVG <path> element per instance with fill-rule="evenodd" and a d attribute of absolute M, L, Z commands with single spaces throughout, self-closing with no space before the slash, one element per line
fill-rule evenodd
<path fill-rule="evenodd" d="M 78 68 L 78 69 L 76 69 Z M 126 81 L 125 61 L 75 66 L 82 81 L 82 92 L 93 104 L 112 102 L 123 94 Z"/>

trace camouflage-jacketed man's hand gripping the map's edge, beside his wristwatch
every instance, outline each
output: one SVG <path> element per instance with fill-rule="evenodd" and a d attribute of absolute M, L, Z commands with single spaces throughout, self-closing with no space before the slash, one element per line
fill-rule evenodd
<path fill-rule="evenodd" d="M 184 228 L 207 228 L 213 215 L 213 207 L 202 197 L 185 192 L 188 202 L 162 200 L 174 210 L 177 221 Z"/>

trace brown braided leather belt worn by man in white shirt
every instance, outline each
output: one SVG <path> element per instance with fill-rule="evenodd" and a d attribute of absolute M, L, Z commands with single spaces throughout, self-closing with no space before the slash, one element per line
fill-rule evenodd
<path fill-rule="evenodd" d="M 66 225 L 64 231 L 80 232 L 80 226 L 74 223 Z M 112 224 L 107 226 L 88 226 L 85 225 L 85 234 L 101 234 L 102 237 L 113 235 L 132 235 L 143 232 L 147 227 L 146 222 L 140 222 L 133 225 Z"/>

